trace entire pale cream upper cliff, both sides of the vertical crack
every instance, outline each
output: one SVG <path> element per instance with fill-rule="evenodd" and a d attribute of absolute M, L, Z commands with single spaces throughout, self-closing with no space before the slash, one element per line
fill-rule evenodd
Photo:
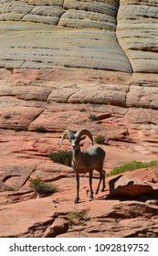
<path fill-rule="evenodd" d="M 147 0 L 1 1 L 1 66 L 157 73 L 157 11 Z"/>

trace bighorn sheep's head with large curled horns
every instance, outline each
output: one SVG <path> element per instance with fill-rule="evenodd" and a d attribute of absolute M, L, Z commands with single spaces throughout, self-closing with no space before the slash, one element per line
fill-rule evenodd
<path fill-rule="evenodd" d="M 66 138 L 71 143 L 72 149 L 78 149 L 79 148 L 79 142 L 84 140 L 86 138 L 86 136 L 88 136 L 90 138 L 92 144 L 94 144 L 93 143 L 93 137 L 92 137 L 89 130 L 83 129 L 83 130 L 80 130 L 77 133 L 72 133 L 71 131 L 65 130 L 62 133 L 61 140 L 60 140 L 60 145 L 62 144 L 63 140 Z"/>

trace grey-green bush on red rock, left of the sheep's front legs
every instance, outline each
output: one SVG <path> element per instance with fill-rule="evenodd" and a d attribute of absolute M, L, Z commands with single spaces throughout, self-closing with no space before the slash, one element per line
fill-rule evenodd
<path fill-rule="evenodd" d="M 58 191 L 58 187 L 56 185 L 47 184 L 46 182 L 42 181 L 41 178 L 38 176 L 37 178 L 30 178 L 29 182 L 29 187 L 31 187 L 39 195 L 48 196 Z"/>

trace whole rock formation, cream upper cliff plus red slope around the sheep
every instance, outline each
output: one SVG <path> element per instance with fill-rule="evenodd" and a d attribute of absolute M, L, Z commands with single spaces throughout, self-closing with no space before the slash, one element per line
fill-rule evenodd
<path fill-rule="evenodd" d="M 107 173 L 157 159 L 157 7 L 147 0 L 0 1 L 0 237 L 158 236 L 157 167 L 114 185 L 137 196 L 131 201 L 109 200 L 107 178 L 106 191 L 89 202 L 82 176 L 74 206 L 72 169 L 47 156 L 59 150 L 64 129 L 87 128 L 107 138 Z M 70 150 L 67 141 L 62 150 Z M 37 176 L 58 192 L 38 198 L 29 187 Z M 86 225 L 70 225 L 67 214 L 83 209 Z"/>

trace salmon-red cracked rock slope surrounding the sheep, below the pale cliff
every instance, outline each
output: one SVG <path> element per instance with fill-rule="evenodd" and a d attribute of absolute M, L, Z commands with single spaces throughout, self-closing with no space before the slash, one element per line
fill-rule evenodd
<path fill-rule="evenodd" d="M 157 166 L 127 172 L 112 190 L 115 177 L 107 177 L 106 190 L 93 201 L 88 175 L 81 176 L 80 203 L 74 205 L 71 167 L 47 156 L 71 150 L 67 140 L 58 147 L 63 130 L 86 128 L 94 138 L 106 136 L 101 147 L 107 174 L 133 160 L 157 160 L 157 110 L 122 106 L 131 75 L 91 69 L 0 70 L 0 237 L 157 237 Z M 82 148 L 89 146 L 87 139 Z M 93 176 L 95 189 L 99 175 Z M 38 197 L 30 177 L 54 183 L 58 192 Z M 69 213 L 85 209 L 82 223 L 68 220 Z"/>

